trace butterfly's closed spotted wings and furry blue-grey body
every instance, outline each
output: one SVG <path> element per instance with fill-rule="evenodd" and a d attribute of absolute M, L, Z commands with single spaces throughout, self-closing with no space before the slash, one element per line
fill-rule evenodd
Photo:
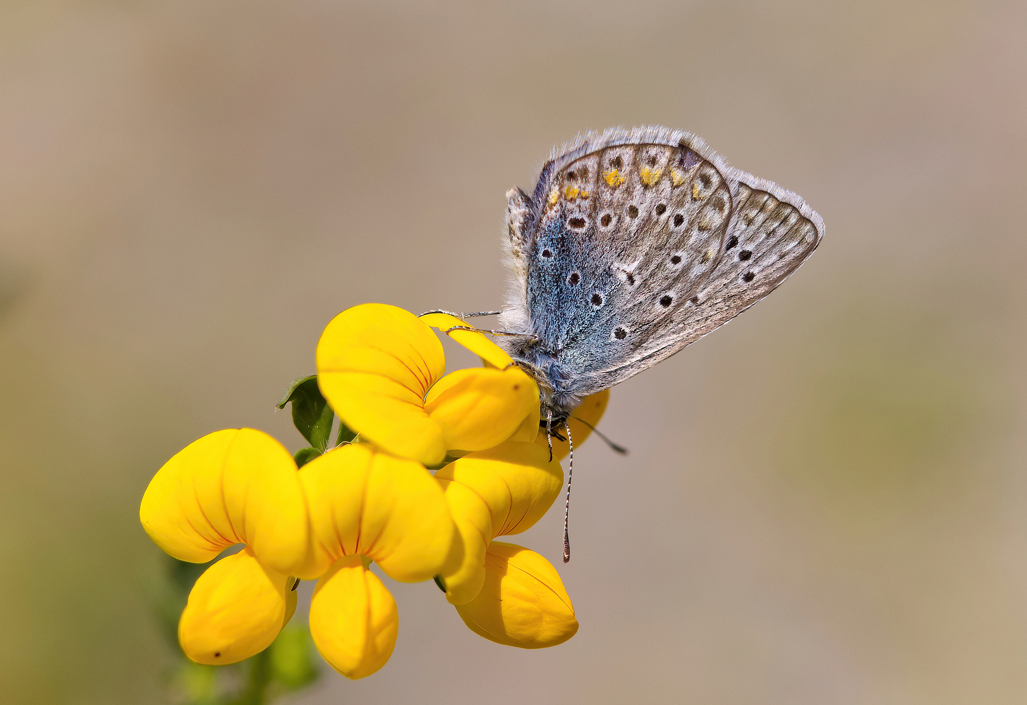
<path fill-rule="evenodd" d="M 663 127 L 580 136 L 507 201 L 499 342 L 558 419 L 765 297 L 824 233 L 798 195 Z"/>

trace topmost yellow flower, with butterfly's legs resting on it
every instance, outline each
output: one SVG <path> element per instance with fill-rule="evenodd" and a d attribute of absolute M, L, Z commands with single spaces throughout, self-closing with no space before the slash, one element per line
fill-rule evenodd
<path fill-rule="evenodd" d="M 484 336 L 454 340 L 493 367 L 446 377 L 443 347 L 430 325 L 462 324 L 445 314 L 418 319 L 394 306 L 343 311 L 317 343 L 317 383 L 343 423 L 385 451 L 435 465 L 447 451 L 484 451 L 538 416 L 538 387 Z M 427 319 L 427 322 L 425 322 Z M 456 321 L 450 323 L 449 321 Z"/>

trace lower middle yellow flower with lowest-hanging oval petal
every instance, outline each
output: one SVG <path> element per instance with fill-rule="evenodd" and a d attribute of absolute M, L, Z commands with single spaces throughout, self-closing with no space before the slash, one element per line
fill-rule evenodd
<path fill-rule="evenodd" d="M 325 660 L 348 678 L 385 665 L 398 614 L 374 560 L 390 578 L 427 580 L 446 562 L 453 520 L 442 488 L 419 463 L 370 443 L 336 448 L 300 470 L 309 498 L 312 553 L 298 575 L 321 576 L 310 633 Z"/>

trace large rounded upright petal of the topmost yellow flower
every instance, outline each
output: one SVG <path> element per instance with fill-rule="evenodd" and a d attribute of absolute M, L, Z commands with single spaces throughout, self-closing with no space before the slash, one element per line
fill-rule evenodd
<path fill-rule="evenodd" d="M 422 399 L 446 373 L 443 347 L 412 313 L 385 304 L 343 311 L 317 343 L 317 384 L 362 438 L 428 465 L 446 456 Z"/>

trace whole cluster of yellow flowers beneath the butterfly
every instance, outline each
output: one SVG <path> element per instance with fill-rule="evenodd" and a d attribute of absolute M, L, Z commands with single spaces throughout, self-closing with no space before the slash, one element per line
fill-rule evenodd
<path fill-rule="evenodd" d="M 231 429 L 191 443 L 157 472 L 140 519 L 161 548 L 205 562 L 243 544 L 190 592 L 179 623 L 190 659 L 228 664 L 267 648 L 296 610 L 299 579 L 319 579 L 310 608 L 318 651 L 349 678 L 374 673 L 395 645 L 398 613 L 371 562 L 405 582 L 441 574 L 448 599 L 487 638 L 541 648 L 573 635 L 573 608 L 553 566 L 492 542 L 534 524 L 563 485 L 559 461 L 539 444 L 538 387 L 489 339 L 451 329 L 460 325 L 448 314 L 418 319 L 380 304 L 328 325 L 319 388 L 370 442 L 297 471 L 270 436 Z M 486 366 L 444 376 L 432 326 Z M 606 396 L 589 397 L 578 414 L 594 424 L 605 404 Z M 589 430 L 571 424 L 580 443 Z M 557 458 L 561 449 L 558 440 Z M 447 454 L 463 457 L 432 477 L 423 464 Z"/>

